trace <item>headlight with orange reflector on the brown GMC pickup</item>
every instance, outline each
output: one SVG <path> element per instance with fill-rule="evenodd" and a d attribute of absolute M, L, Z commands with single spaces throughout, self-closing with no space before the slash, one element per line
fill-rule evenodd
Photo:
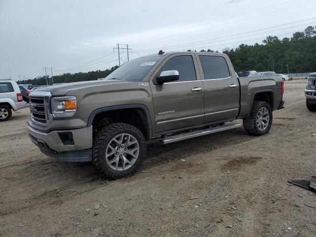
<path fill-rule="evenodd" d="M 72 117 L 76 114 L 77 99 L 75 96 L 52 97 L 50 104 L 53 117 Z"/>

